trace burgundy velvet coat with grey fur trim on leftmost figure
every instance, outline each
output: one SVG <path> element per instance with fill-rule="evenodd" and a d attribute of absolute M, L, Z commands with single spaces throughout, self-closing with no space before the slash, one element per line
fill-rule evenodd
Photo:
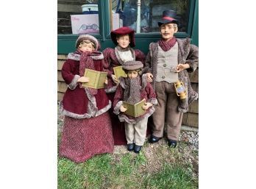
<path fill-rule="evenodd" d="M 91 118 L 107 112 L 111 101 L 104 89 L 98 89 L 93 96 L 88 88 L 79 88 L 79 54 L 68 54 L 68 57 L 61 72 L 68 89 L 60 101 L 60 112 L 72 118 Z M 104 71 L 103 61 L 93 60 L 96 71 Z"/>

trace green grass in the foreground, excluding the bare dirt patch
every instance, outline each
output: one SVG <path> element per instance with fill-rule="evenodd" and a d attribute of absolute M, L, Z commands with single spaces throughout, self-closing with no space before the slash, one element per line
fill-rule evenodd
<path fill-rule="evenodd" d="M 178 154 L 175 151 L 175 154 Z M 163 163 L 160 171 L 145 170 L 146 156 L 127 153 L 97 155 L 85 163 L 73 163 L 58 158 L 58 188 L 198 188 L 198 179 L 192 175 L 189 163 Z M 144 168 L 144 169 L 143 169 Z"/>

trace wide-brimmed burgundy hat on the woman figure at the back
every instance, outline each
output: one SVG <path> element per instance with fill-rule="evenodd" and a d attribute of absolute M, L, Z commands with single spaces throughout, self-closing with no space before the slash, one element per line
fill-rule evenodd
<path fill-rule="evenodd" d="M 135 47 L 135 31 L 133 29 L 130 29 L 129 27 L 121 27 L 118 29 L 113 30 L 110 35 L 111 39 L 113 40 L 113 43 L 117 46 L 117 40 L 116 40 L 116 35 L 129 35 L 130 38 L 130 47 Z"/>

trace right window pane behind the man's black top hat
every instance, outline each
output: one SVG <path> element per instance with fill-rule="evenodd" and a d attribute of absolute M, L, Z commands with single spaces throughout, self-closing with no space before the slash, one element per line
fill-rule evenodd
<path fill-rule="evenodd" d="M 179 20 L 179 32 L 188 32 L 189 0 L 141 0 L 141 21 L 137 26 L 138 0 L 110 0 L 113 26 L 129 26 L 138 32 L 159 32 L 157 22 L 164 10 L 175 10 Z"/>

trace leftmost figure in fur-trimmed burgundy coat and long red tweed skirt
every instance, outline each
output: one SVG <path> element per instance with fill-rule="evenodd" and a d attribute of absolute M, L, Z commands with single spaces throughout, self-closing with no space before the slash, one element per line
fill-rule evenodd
<path fill-rule="evenodd" d="M 76 163 L 84 162 L 95 154 L 113 153 L 114 141 L 110 115 L 111 101 L 102 89 L 83 87 L 89 82 L 85 68 L 103 70 L 103 54 L 100 44 L 91 35 L 80 35 L 77 51 L 68 54 L 62 68 L 62 76 L 68 89 L 60 112 L 65 115 L 59 154 Z M 107 82 L 107 79 L 106 79 Z"/>

